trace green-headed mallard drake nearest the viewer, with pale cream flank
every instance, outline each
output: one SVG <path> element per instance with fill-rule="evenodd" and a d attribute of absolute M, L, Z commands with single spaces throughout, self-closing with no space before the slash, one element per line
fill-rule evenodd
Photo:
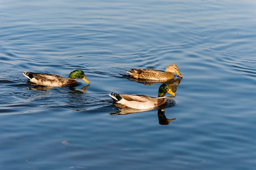
<path fill-rule="evenodd" d="M 151 98 L 145 95 L 120 95 L 117 93 L 111 93 L 113 101 L 117 104 L 121 104 L 124 107 L 135 108 L 135 109 L 150 109 L 156 108 L 167 102 L 165 93 L 175 95 L 168 86 L 168 84 L 162 84 L 159 87 L 158 97 Z"/>

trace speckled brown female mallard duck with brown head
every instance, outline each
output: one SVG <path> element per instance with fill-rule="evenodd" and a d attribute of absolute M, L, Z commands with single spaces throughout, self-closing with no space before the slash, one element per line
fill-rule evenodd
<path fill-rule="evenodd" d="M 132 77 L 136 79 L 147 79 L 157 82 L 164 82 L 166 80 L 173 79 L 173 73 L 176 73 L 177 75 L 182 77 L 178 66 L 176 66 L 175 64 L 168 65 L 165 69 L 165 72 L 148 68 L 132 68 L 131 71 L 126 71 L 126 73 L 129 73 Z"/>

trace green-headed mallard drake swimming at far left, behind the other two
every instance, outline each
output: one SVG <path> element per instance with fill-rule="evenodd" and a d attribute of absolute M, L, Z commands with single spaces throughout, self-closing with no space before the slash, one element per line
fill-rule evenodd
<path fill-rule="evenodd" d="M 83 79 L 85 82 L 90 83 L 81 70 L 75 70 L 70 73 L 68 78 L 63 78 L 56 74 L 47 73 L 32 73 L 24 72 L 23 75 L 29 79 L 30 82 L 42 86 L 65 86 L 76 83 L 76 78 Z"/>

